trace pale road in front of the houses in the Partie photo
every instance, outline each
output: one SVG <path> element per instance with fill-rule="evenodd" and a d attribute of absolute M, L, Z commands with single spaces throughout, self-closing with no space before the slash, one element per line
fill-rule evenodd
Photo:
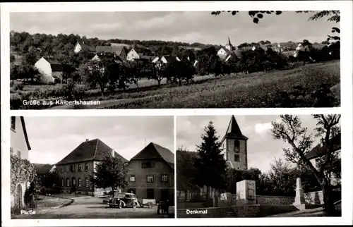
<path fill-rule="evenodd" d="M 19 219 L 160 219 L 157 208 L 109 208 L 102 204 L 103 199 L 96 197 L 76 197 L 67 207 L 54 209 L 46 214 L 23 215 Z M 166 217 L 166 216 L 165 216 Z"/>

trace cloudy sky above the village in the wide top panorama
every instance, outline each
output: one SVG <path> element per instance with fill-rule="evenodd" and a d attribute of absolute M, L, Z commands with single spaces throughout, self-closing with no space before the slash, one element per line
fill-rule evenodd
<path fill-rule="evenodd" d="M 258 24 L 247 11 L 236 16 L 206 11 L 171 12 L 54 12 L 11 13 L 10 28 L 16 32 L 57 35 L 78 34 L 100 39 L 164 40 L 222 44 L 229 37 L 234 46 L 244 42 L 322 42 L 331 27 L 339 23 L 327 18 L 309 21 L 311 13 L 285 11 L 280 16 L 265 15 Z"/>

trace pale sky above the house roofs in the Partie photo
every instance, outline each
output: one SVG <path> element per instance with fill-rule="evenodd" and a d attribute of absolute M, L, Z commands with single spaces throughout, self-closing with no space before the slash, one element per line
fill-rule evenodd
<path fill-rule="evenodd" d="M 126 159 L 154 142 L 174 153 L 174 116 L 25 117 L 32 163 L 56 164 L 85 139 Z"/>

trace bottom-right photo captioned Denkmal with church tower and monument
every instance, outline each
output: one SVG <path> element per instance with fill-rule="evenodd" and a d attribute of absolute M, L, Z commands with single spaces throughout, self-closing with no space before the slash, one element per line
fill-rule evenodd
<path fill-rule="evenodd" d="M 340 124 L 177 116 L 177 218 L 341 216 Z"/>

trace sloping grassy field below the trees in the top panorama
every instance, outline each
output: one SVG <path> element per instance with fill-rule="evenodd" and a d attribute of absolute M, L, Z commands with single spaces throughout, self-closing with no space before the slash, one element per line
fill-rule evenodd
<path fill-rule="evenodd" d="M 313 96 L 313 92 L 323 85 L 329 88 L 336 87 L 332 100 Z M 85 100 L 100 100 L 100 105 L 97 106 L 54 106 L 54 109 L 339 106 L 340 61 L 308 64 L 292 70 L 225 75 L 217 79 L 209 75 L 197 77 L 193 84 L 181 87 L 164 85 L 159 89 L 149 88 L 148 82 L 145 82 L 145 86 L 147 87 L 140 92 L 119 92 L 104 98 L 101 98 L 99 93 L 91 93 L 90 97 L 85 98 Z"/>

